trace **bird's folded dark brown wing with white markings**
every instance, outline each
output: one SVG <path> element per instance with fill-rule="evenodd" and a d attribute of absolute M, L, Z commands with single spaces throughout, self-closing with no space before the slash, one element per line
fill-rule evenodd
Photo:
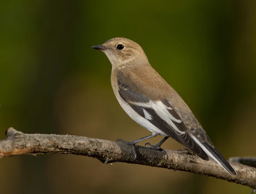
<path fill-rule="evenodd" d="M 172 103 L 169 102 L 167 98 L 152 100 L 133 89 L 136 83 L 132 83 L 131 80 L 129 80 L 129 82 L 126 80 L 127 79 L 123 79 L 122 74 L 119 74 L 117 77 L 119 86 L 118 92 L 120 97 L 128 103 L 137 114 L 147 119 L 169 137 L 172 137 L 177 142 L 192 150 L 203 160 L 209 159 L 205 151 L 198 145 L 198 142 L 196 142 L 196 140 L 199 142 L 202 141 L 202 143 L 205 142 L 204 137 L 207 135 L 203 129 L 187 128 L 186 124 L 188 123 L 184 123 L 184 120 L 182 120 L 177 113 L 177 108 L 173 107 Z M 189 120 L 189 118 L 187 119 Z M 191 133 L 193 133 L 193 136 L 191 136 Z M 193 137 L 199 137 L 199 139 L 197 138 L 195 140 Z"/>

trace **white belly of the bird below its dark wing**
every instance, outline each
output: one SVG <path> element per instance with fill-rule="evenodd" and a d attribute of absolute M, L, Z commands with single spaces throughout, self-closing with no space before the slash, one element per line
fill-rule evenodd
<path fill-rule="evenodd" d="M 136 123 L 140 124 L 144 128 L 148 129 L 148 131 L 151 131 L 152 133 L 158 133 L 163 136 L 168 136 L 165 133 L 163 133 L 163 131 L 161 131 L 159 128 L 150 123 L 147 119 L 140 116 L 140 114 L 134 111 L 134 109 L 132 109 L 131 106 L 129 106 L 129 104 L 126 103 L 120 96 L 116 96 L 116 99 L 118 100 L 120 106 Z"/>

